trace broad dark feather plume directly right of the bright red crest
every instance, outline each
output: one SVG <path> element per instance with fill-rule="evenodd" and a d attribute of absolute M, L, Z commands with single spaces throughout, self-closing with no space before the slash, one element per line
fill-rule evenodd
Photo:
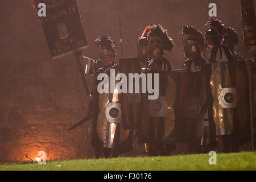
<path fill-rule="evenodd" d="M 165 51 L 171 51 L 174 48 L 174 42 L 172 38 L 168 36 L 167 30 L 164 29 L 160 24 L 154 24 L 152 27 L 150 27 L 148 38 L 150 37 L 158 37 L 162 42 L 162 46 Z"/>

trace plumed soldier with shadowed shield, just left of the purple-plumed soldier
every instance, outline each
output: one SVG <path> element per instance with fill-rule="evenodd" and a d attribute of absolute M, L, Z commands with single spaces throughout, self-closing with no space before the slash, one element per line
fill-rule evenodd
<path fill-rule="evenodd" d="M 185 70 L 181 72 L 180 79 L 180 118 L 179 134 L 180 142 L 189 144 L 189 152 L 201 152 L 209 137 L 206 135 L 208 121 L 204 121 L 207 110 L 205 95 L 204 65 L 207 61 L 203 57 L 203 49 L 206 48 L 205 40 L 199 30 L 192 26 L 184 26 L 183 40 Z"/>

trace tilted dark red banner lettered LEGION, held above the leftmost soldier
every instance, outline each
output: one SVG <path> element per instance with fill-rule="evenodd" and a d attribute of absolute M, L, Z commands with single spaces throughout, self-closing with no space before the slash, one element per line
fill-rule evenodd
<path fill-rule="evenodd" d="M 76 0 L 35 0 L 46 4 L 46 17 L 39 17 L 52 59 L 87 47 Z"/>

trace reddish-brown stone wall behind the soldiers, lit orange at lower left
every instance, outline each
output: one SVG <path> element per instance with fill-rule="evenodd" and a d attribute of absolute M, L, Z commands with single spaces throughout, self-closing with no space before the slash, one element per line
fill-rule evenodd
<path fill-rule="evenodd" d="M 166 53 L 174 69 L 183 65 L 184 24 L 205 30 L 208 5 L 217 3 L 218 18 L 237 29 L 237 51 L 245 56 L 239 0 L 78 0 L 88 38 L 85 54 L 97 59 L 94 38 L 109 34 L 117 41 L 122 21 L 124 57 L 137 55 L 137 39 L 147 25 L 162 24 L 174 39 Z M 205 52 L 207 55 L 207 52 Z M 88 78 L 89 84 L 91 79 Z M 40 150 L 47 160 L 93 155 L 90 127 L 67 129 L 85 117 L 85 94 L 73 55 L 51 60 L 42 25 L 29 0 L 0 1 L 0 161 L 34 159 Z"/>

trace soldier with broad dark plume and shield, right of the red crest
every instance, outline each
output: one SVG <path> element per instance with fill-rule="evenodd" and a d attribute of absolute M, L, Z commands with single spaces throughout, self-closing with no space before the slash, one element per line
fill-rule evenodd
<path fill-rule="evenodd" d="M 174 130 L 172 106 L 176 88 L 174 80 L 168 75 L 171 72 L 171 65 L 163 55 L 164 51 L 171 51 L 174 48 L 174 43 L 167 30 L 160 24 L 150 28 L 147 39 L 149 60 L 145 64 L 144 73 L 159 73 L 159 98 L 148 100 L 146 94 L 143 95 L 139 142 L 148 144 L 149 155 L 168 155 L 175 148 L 171 134 Z M 172 90 L 168 91 L 169 88 Z"/>

